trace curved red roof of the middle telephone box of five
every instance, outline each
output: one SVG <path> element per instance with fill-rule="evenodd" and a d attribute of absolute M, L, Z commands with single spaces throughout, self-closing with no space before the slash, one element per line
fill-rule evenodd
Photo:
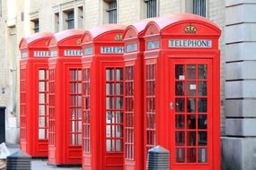
<path fill-rule="evenodd" d="M 86 30 L 84 32 L 82 44 L 85 44 L 91 41 L 116 41 L 117 39 L 114 39 L 107 35 L 109 35 L 111 32 L 120 32 L 122 34 L 125 29 L 126 29 L 125 25 L 106 24 L 100 27 L 96 27 L 92 30 Z M 119 41 L 121 41 L 121 39 L 119 39 Z"/>

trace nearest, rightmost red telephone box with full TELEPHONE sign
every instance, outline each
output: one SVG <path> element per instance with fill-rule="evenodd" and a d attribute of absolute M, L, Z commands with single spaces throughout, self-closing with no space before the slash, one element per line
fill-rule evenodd
<path fill-rule="evenodd" d="M 220 33 L 193 14 L 146 26 L 145 145 L 169 149 L 172 169 L 220 169 Z"/>

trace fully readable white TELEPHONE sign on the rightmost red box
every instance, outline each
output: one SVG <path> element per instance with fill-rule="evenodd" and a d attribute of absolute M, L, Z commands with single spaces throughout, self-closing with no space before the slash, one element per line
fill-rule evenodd
<path fill-rule="evenodd" d="M 212 47 L 210 39 L 169 39 L 169 47 Z"/>

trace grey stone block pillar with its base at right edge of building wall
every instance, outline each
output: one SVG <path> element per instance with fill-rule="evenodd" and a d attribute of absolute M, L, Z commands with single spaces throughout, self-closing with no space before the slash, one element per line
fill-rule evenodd
<path fill-rule="evenodd" d="M 256 169 L 256 1 L 225 1 L 222 169 Z"/>

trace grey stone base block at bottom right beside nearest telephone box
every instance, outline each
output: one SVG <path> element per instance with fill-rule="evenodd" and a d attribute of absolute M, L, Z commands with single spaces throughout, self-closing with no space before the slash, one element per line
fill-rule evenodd
<path fill-rule="evenodd" d="M 222 170 L 256 170 L 256 138 L 221 140 Z"/>

